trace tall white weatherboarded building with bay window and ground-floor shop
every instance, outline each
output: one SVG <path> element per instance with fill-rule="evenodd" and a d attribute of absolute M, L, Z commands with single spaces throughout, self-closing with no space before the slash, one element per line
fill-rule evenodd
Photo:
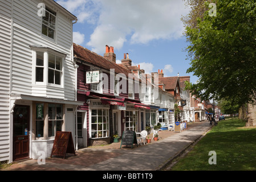
<path fill-rule="evenodd" d="M 50 156 L 56 131 L 75 139 L 75 22 L 52 0 L 0 0 L 0 161 Z"/>

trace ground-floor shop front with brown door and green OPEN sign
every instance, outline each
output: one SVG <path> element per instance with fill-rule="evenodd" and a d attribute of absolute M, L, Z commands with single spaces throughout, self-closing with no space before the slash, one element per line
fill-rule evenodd
<path fill-rule="evenodd" d="M 11 161 L 49 157 L 56 131 L 71 131 L 75 140 L 75 111 L 83 102 L 16 95 L 11 104 Z"/>

